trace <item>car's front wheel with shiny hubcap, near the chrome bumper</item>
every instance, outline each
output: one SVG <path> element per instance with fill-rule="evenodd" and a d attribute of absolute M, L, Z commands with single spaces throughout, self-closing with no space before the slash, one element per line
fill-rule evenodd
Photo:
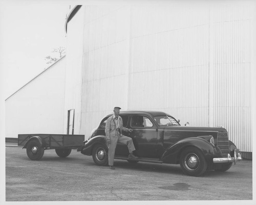
<path fill-rule="evenodd" d="M 207 163 L 201 150 L 196 147 L 189 147 L 181 153 L 180 166 L 185 174 L 200 176 L 205 172 Z"/>

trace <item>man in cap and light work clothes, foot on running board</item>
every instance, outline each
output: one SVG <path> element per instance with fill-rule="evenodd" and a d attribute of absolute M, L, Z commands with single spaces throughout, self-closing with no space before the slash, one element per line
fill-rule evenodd
<path fill-rule="evenodd" d="M 119 107 L 114 108 L 114 114 L 106 120 L 105 126 L 106 141 L 109 143 L 109 166 L 111 169 L 115 169 L 113 165 L 117 142 L 127 145 L 130 152 L 129 159 L 138 159 L 133 154 L 135 147 L 132 138 L 122 135 L 122 131 L 131 133 L 133 130 L 123 127 L 123 120 L 119 116 L 120 109 Z"/>

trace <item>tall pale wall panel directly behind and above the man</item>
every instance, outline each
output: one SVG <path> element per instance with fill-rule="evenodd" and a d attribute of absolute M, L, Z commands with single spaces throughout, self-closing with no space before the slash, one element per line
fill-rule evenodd
<path fill-rule="evenodd" d="M 89 137 L 115 106 L 127 109 L 130 9 L 124 6 L 87 6 L 81 133 Z"/>

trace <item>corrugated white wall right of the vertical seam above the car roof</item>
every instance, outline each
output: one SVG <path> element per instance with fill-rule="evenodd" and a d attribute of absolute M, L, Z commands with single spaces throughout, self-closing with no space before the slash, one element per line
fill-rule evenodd
<path fill-rule="evenodd" d="M 252 151 L 250 5 L 133 7 L 128 108 L 223 125 Z"/>

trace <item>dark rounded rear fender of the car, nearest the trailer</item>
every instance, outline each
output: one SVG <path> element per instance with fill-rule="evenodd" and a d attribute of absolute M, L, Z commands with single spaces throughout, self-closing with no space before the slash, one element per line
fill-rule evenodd
<path fill-rule="evenodd" d="M 89 139 L 83 146 L 81 149 L 81 153 L 83 155 L 92 155 L 92 151 L 93 151 L 93 147 L 95 144 L 102 144 L 106 147 L 108 147 L 107 143 L 106 143 L 106 137 L 103 135 L 99 135 L 99 136 L 95 136 L 91 139 Z"/>

